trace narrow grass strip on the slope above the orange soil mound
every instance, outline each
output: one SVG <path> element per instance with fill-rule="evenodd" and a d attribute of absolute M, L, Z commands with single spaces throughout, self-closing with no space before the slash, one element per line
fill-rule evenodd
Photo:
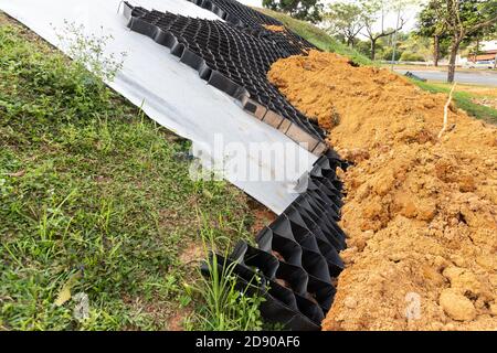
<path fill-rule="evenodd" d="M 288 29 L 290 29 L 302 38 L 306 39 L 307 41 L 309 41 L 310 43 L 313 43 L 322 51 L 348 56 L 359 65 L 372 64 L 372 62 L 368 57 L 366 57 L 358 51 L 335 40 L 334 38 L 328 35 L 324 30 L 313 25 L 309 22 L 296 20 L 285 13 L 276 12 L 268 9 L 256 8 L 256 10 L 281 21 Z"/>

